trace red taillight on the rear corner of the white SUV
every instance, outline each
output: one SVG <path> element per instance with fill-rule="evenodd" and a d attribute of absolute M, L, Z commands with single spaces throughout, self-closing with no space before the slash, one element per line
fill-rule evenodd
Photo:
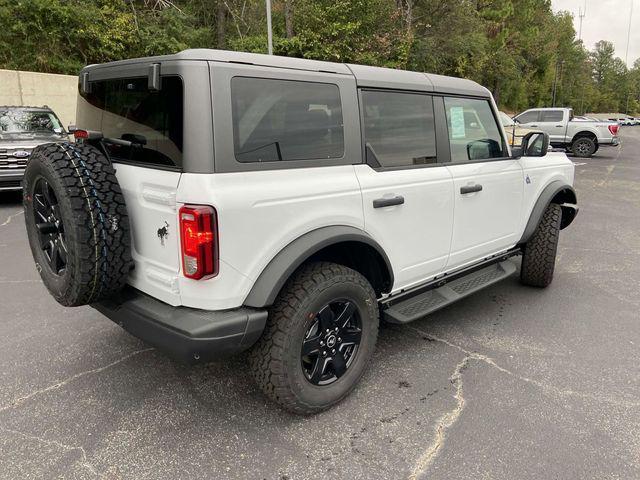
<path fill-rule="evenodd" d="M 182 271 L 199 280 L 218 274 L 218 221 L 213 207 L 185 205 L 180 208 Z"/>

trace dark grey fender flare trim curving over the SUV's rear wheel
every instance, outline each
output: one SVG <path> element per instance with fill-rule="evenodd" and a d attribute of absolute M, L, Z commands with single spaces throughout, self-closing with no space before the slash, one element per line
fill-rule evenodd
<path fill-rule="evenodd" d="M 289 277 L 310 256 L 325 247 L 357 242 L 374 248 L 384 260 L 389 274 L 389 288 L 393 285 L 393 269 L 384 249 L 364 230 L 346 225 L 322 227 L 293 240 L 271 259 L 257 278 L 244 301 L 248 307 L 262 308 L 272 305 Z"/>

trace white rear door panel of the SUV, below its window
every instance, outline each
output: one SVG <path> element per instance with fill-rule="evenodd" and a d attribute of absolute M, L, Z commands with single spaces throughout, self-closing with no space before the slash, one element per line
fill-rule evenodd
<path fill-rule="evenodd" d="M 400 290 L 441 273 L 453 228 L 453 185 L 445 166 L 392 171 L 355 165 L 362 188 L 364 229 L 387 253 Z M 378 198 L 405 203 L 373 208 Z"/>

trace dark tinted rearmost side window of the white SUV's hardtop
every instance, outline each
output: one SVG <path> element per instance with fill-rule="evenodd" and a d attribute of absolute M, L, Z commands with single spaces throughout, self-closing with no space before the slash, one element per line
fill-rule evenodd
<path fill-rule="evenodd" d="M 239 162 L 340 158 L 340 91 L 328 83 L 234 77 L 233 144 Z"/>

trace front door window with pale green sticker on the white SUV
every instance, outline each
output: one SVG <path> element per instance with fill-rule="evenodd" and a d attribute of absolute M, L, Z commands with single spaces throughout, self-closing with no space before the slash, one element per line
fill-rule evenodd
<path fill-rule="evenodd" d="M 500 129 L 487 100 L 444 99 L 452 162 L 506 156 Z"/>

